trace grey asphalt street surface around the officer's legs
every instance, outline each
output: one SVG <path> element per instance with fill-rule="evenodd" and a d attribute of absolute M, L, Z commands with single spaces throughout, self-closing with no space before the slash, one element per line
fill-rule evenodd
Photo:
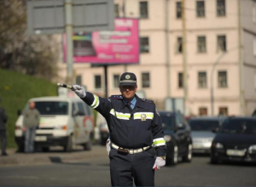
<path fill-rule="evenodd" d="M 94 153 L 95 152 L 95 153 Z M 28 154 L 26 158 L 52 156 L 50 162 L 0 165 L 1 186 L 109 186 L 105 147 L 77 150 L 70 157 L 58 150 Z M 15 155 L 15 154 L 14 154 Z M 66 155 L 63 157 L 63 155 Z M 73 157 L 74 159 L 68 159 Z M 63 159 L 65 158 L 65 159 Z M 0 158 L 1 160 L 1 158 Z M 155 173 L 157 186 L 255 186 L 256 165 L 209 163 L 208 156 L 194 156 L 191 163 L 164 167 Z"/>

